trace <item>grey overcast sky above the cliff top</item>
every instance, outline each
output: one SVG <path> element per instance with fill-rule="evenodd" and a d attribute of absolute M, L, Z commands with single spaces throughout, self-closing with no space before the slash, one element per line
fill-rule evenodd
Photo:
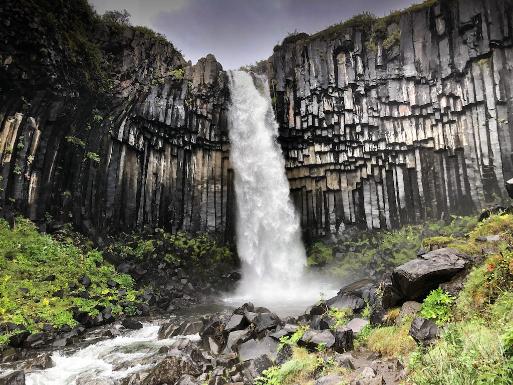
<path fill-rule="evenodd" d="M 126 9 L 133 25 L 165 34 L 195 64 L 208 53 L 224 69 L 267 59 L 297 29 L 308 34 L 369 11 L 384 16 L 422 0 L 88 0 L 100 14 Z"/>

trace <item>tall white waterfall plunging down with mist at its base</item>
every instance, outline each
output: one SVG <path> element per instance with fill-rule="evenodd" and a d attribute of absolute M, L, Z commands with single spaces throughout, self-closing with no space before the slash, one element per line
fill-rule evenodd
<path fill-rule="evenodd" d="M 235 174 L 236 245 L 242 279 L 226 302 L 278 307 L 310 305 L 329 290 L 304 274 L 301 227 L 289 197 L 285 159 L 265 76 L 231 71 L 228 110 Z M 304 308 L 303 308 L 304 310 Z"/>

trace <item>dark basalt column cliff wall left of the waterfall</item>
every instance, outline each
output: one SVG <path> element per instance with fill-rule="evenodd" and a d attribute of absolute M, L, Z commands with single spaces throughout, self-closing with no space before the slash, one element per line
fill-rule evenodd
<path fill-rule="evenodd" d="M 73 10 L 54 12 L 65 20 Z M 215 57 L 192 66 L 172 44 L 96 25 L 93 43 L 110 63 L 97 88 L 111 87 L 97 97 L 73 79 L 74 61 L 86 59 L 39 32 L 52 29 L 35 17 L 11 0 L 0 9 L 0 51 L 10 53 L 0 71 L 2 207 L 33 220 L 72 216 L 92 237 L 154 227 L 228 235 L 228 91 Z"/>

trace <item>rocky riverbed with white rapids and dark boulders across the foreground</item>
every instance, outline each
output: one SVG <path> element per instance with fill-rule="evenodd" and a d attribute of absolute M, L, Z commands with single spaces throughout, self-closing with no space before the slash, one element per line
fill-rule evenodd
<path fill-rule="evenodd" d="M 403 303 L 398 321 L 415 316 L 416 300 L 463 277 L 475 262 L 456 249 L 437 249 L 396 268 L 391 282 L 354 282 L 295 317 L 251 303 L 236 309 L 218 303 L 165 317 L 127 317 L 87 332 L 79 326 L 52 344 L 4 349 L 0 383 L 248 385 L 303 348 L 316 357 L 316 384 L 399 384 L 404 363 L 354 350 L 355 339 L 367 324 L 385 324 L 391 306 Z M 459 286 L 446 284 L 454 293 Z M 413 319 L 410 335 L 418 343 L 429 344 L 438 333 L 436 324 Z M 61 345 L 63 338 L 70 343 Z"/>

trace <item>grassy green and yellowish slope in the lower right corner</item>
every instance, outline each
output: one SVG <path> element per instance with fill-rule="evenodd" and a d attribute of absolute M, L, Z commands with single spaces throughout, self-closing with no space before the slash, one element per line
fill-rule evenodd
<path fill-rule="evenodd" d="M 360 345 L 384 356 L 409 362 L 408 382 L 416 385 L 513 384 L 513 216 L 497 215 L 479 223 L 468 233 L 466 249 L 487 246 L 477 236 L 501 235 L 497 252 L 474 267 L 458 298 L 442 298 L 441 291 L 428 296 L 422 311 L 440 323 L 450 321 L 445 332 L 430 347 L 418 347 L 408 335 L 411 324 L 365 331 Z M 431 240 L 432 244 L 440 239 Z M 449 245 L 451 245 L 449 243 Z M 462 247 L 463 244 L 454 244 Z M 479 251 L 479 250 L 478 250 Z M 435 307 L 443 312 L 434 312 Z M 440 309 L 439 309 L 440 310 Z M 390 311 L 388 318 L 393 318 Z M 397 315 L 396 315 L 397 317 Z M 428 317 L 428 318 L 429 318 Z"/>

